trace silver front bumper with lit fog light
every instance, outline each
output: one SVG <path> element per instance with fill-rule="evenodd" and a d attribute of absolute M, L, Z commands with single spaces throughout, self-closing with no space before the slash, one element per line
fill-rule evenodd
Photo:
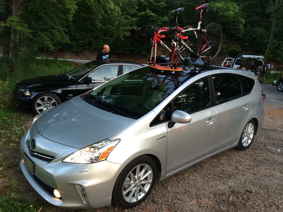
<path fill-rule="evenodd" d="M 107 160 L 91 164 L 65 163 L 56 158 L 48 161 L 30 154 L 27 139 L 26 134 L 20 148 L 22 155 L 34 163 L 34 171 L 29 171 L 24 159 L 20 166 L 29 183 L 46 201 L 64 208 L 101 208 L 111 204 L 114 184 L 125 165 Z M 52 195 L 54 189 L 60 192 L 61 199 Z"/>

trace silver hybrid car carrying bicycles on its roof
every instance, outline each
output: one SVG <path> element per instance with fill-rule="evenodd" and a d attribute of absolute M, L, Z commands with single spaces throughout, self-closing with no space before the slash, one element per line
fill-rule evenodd
<path fill-rule="evenodd" d="M 264 117 L 254 74 L 144 67 L 38 115 L 21 140 L 24 176 L 49 203 L 138 205 L 155 181 L 249 148 Z"/>

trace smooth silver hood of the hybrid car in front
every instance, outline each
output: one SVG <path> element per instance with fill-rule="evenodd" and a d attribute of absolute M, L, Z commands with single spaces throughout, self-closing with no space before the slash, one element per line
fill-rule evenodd
<path fill-rule="evenodd" d="M 42 114 L 36 126 L 45 138 L 80 149 L 109 138 L 134 121 L 75 97 Z"/>

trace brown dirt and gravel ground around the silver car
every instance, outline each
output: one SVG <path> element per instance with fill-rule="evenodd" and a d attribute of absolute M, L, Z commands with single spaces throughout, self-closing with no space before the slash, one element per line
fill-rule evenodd
<path fill-rule="evenodd" d="M 18 148 L 17 154 L 7 161 L 10 164 L 7 176 L 0 178 L 0 195 L 6 195 L 5 189 L 11 186 L 9 181 L 14 176 L 19 181 L 16 192 L 28 195 L 32 202 L 42 206 L 41 211 L 283 211 L 283 92 L 278 92 L 275 86 L 262 86 L 266 92 L 264 123 L 248 150 L 227 150 L 157 182 L 149 197 L 135 208 L 125 210 L 111 205 L 79 210 L 50 205 L 24 178 L 17 165 L 21 159 Z M 32 114 L 30 118 L 32 121 Z"/>

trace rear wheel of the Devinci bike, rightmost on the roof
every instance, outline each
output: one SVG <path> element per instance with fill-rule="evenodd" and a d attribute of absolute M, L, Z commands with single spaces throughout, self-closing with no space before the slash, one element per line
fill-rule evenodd
<path fill-rule="evenodd" d="M 198 45 L 198 52 L 203 62 L 210 62 L 215 60 L 221 50 L 223 35 L 221 28 L 216 23 L 210 23 L 204 28 L 204 33 L 200 35 L 200 42 Z M 208 58 L 210 57 L 210 58 Z"/>

